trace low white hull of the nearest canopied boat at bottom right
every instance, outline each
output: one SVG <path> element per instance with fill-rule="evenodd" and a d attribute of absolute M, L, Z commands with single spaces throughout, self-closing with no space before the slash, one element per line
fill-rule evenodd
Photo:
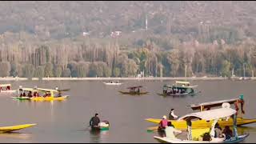
<path fill-rule="evenodd" d="M 158 142 L 164 143 L 238 143 L 244 141 L 249 134 L 239 135 L 238 138 L 231 138 L 231 140 L 223 141 L 221 138 L 213 139 L 212 141 L 188 141 L 188 140 L 181 140 L 181 139 L 174 139 L 174 138 L 161 138 L 154 136 L 154 139 L 158 140 Z"/>

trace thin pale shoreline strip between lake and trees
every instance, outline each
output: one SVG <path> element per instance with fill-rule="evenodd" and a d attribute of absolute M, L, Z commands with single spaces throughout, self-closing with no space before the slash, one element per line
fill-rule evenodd
<path fill-rule="evenodd" d="M 238 77 L 232 78 L 233 80 L 239 80 Z M 256 78 L 250 78 L 250 80 L 255 80 Z M 42 81 L 109 81 L 109 80 L 230 80 L 224 77 L 146 77 L 146 78 L 42 78 Z M 39 78 L 0 78 L 0 81 L 39 81 Z"/>

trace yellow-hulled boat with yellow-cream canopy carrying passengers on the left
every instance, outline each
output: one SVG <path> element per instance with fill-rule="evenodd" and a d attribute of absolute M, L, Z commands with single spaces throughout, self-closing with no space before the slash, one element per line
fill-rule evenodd
<path fill-rule="evenodd" d="M 50 90 L 50 89 L 42 89 L 42 88 L 20 88 L 19 91 L 24 92 L 30 92 L 30 94 L 39 94 L 44 93 L 44 96 L 16 96 L 16 97 L 12 97 L 14 99 L 18 99 L 18 100 L 31 100 L 31 101 L 36 101 L 36 102 L 42 102 L 42 101 L 63 101 L 66 98 L 69 97 L 69 95 L 62 95 L 61 92 L 62 91 L 68 91 L 67 90 Z M 57 95 L 56 95 L 57 93 Z"/>

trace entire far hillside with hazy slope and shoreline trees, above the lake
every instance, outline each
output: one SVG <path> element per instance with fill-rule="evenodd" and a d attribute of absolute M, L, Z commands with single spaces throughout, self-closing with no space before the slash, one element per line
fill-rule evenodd
<path fill-rule="evenodd" d="M 251 76 L 256 2 L 0 2 L 0 77 Z"/>

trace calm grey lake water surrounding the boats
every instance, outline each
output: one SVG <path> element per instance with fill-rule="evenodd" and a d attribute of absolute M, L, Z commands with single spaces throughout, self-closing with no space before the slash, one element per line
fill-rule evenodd
<path fill-rule="evenodd" d="M 6 82 L 0 82 L 6 83 Z M 245 118 L 256 118 L 255 85 L 251 82 L 194 81 L 202 94 L 194 97 L 163 98 L 156 93 L 162 91 L 164 83 L 172 81 L 126 81 L 122 86 L 105 86 L 101 81 L 44 81 L 10 82 L 13 88 L 43 87 L 70 88 L 70 98 L 64 102 L 19 102 L 10 95 L 0 95 L 0 126 L 37 123 L 37 126 L 16 133 L 0 134 L 0 142 L 157 142 L 146 128 L 154 126 L 145 118 L 162 118 L 171 108 L 176 114 L 190 113 L 187 105 L 210 102 L 226 98 L 237 98 L 244 94 Z M 127 86 L 145 86 L 150 94 L 130 96 L 118 94 Z M 86 130 L 94 113 L 101 120 L 110 122 L 110 130 L 91 134 Z M 245 142 L 255 142 L 255 124 L 238 129 L 239 133 L 250 133 Z"/>

